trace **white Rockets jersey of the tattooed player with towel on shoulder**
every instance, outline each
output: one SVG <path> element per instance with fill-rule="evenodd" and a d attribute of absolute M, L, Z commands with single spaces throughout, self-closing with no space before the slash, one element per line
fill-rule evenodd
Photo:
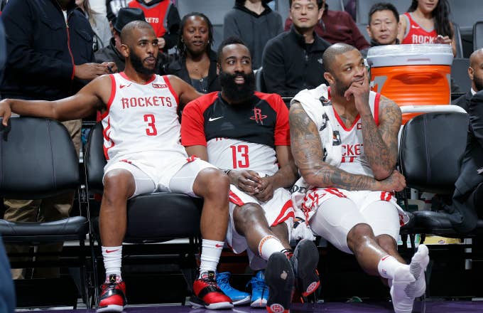
<path fill-rule="evenodd" d="M 371 113 L 372 116 L 374 116 L 376 123 L 378 122 L 379 116 L 379 97 L 380 95 L 376 92 L 369 93 L 369 106 L 371 107 Z M 364 155 L 362 123 L 359 115 L 357 115 L 356 120 L 354 120 L 351 127 L 346 127 L 335 111 L 335 108 L 331 113 L 329 119 L 332 122 L 332 125 L 334 125 L 335 136 L 337 136 L 338 133 L 342 145 L 340 169 L 352 174 L 374 177 L 371 167 Z"/>

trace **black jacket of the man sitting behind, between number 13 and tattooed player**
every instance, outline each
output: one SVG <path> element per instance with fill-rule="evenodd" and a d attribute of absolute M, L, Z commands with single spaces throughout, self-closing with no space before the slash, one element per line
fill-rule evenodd
<path fill-rule="evenodd" d="M 327 83 L 322 54 L 330 43 L 315 32 L 314 38 L 312 45 L 305 44 L 303 36 L 292 26 L 290 31 L 268 41 L 262 57 L 267 92 L 293 97 L 300 90 Z"/>

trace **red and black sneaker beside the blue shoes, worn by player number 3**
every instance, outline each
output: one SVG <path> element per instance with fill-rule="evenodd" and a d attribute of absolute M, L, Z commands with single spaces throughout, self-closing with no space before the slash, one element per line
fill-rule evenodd
<path fill-rule="evenodd" d="M 233 303 L 217 285 L 215 272 L 204 272 L 193 283 L 193 295 L 190 304 L 194 309 L 205 307 L 207 309 L 232 309 Z"/>

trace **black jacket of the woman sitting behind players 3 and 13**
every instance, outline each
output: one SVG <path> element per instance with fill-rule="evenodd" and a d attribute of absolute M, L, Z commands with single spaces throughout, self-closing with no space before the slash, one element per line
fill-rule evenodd
<path fill-rule="evenodd" d="M 174 60 L 165 66 L 165 73 L 168 75 L 176 75 L 186 83 L 191 84 L 190 73 L 186 68 L 186 58 L 183 56 L 178 60 Z M 217 53 L 210 51 L 210 69 L 208 70 L 208 90 L 205 93 L 222 90 L 219 85 L 217 75 Z"/>

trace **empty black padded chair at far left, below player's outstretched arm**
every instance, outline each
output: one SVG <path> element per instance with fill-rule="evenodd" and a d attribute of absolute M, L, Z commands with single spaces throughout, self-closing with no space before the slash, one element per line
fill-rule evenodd
<path fill-rule="evenodd" d="M 58 196 L 80 187 L 79 158 L 67 129 L 55 120 L 34 117 L 12 117 L 9 127 L 0 126 L 0 197 L 42 199 Z M 12 262 L 12 267 L 80 267 L 80 292 L 88 303 L 85 238 L 89 222 L 84 216 L 60 221 L 18 223 L 0 220 L 0 233 L 5 243 L 40 245 L 75 240 L 80 243 L 75 260 L 32 260 Z M 37 255 L 34 253 L 34 256 Z M 17 255 L 16 255 L 17 256 Z M 18 255 L 20 256 L 20 255 Z M 29 254 L 28 256 L 32 256 Z M 75 295 L 77 298 L 77 295 Z"/>

